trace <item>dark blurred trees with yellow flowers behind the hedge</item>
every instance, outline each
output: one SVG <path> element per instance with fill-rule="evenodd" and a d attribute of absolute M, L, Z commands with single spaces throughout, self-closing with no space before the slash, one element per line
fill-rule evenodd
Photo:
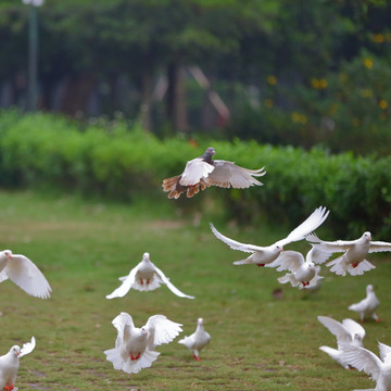
<path fill-rule="evenodd" d="M 0 106 L 27 105 L 28 16 L 0 3 Z M 38 109 L 388 154 L 387 0 L 46 0 Z"/>

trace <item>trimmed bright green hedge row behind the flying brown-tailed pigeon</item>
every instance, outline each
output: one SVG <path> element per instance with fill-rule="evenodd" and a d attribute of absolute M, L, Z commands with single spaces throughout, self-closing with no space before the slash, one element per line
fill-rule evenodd
<path fill-rule="evenodd" d="M 248 190 L 207 189 L 193 199 L 167 200 L 162 179 L 179 174 L 187 160 L 209 146 L 216 159 L 249 168 L 266 166 L 265 186 Z M 314 149 L 270 147 L 254 141 L 160 140 L 137 125 L 88 125 L 49 114 L 0 112 L 0 186 L 51 186 L 111 199 L 150 197 L 258 224 L 294 226 L 315 207 L 331 214 L 327 225 L 341 238 L 368 229 L 391 236 L 391 156 L 330 155 Z"/>

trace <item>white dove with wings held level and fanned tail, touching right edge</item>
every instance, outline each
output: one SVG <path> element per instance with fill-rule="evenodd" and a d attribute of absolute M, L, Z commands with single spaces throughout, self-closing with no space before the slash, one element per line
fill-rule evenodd
<path fill-rule="evenodd" d="M 360 276 L 364 272 L 375 268 L 365 257 L 368 253 L 391 251 L 391 243 L 382 241 L 371 241 L 370 232 L 366 231 L 356 240 L 323 241 L 315 234 L 310 234 L 305 238 L 311 244 L 330 254 L 343 252 L 343 254 L 326 264 L 332 266 L 330 272 L 340 276 L 349 273 L 351 276 Z"/>

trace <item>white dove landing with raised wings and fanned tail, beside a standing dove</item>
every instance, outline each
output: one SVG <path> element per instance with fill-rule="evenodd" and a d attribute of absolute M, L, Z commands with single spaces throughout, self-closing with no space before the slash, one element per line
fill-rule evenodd
<path fill-rule="evenodd" d="M 151 316 L 141 328 L 135 327 L 127 313 L 121 313 L 112 323 L 118 335 L 115 348 L 104 351 L 104 354 L 113 363 L 114 369 L 127 374 L 137 374 L 150 367 L 160 355 L 155 348 L 172 342 L 182 331 L 180 324 L 164 315 Z"/>

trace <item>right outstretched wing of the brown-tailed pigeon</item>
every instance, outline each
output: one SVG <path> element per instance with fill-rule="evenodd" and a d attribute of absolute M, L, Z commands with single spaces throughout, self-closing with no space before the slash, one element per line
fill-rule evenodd
<path fill-rule="evenodd" d="M 223 160 L 214 161 L 215 169 L 205 178 L 205 182 L 212 186 L 236 189 L 245 189 L 251 186 L 262 186 L 254 177 L 260 177 L 266 174 L 265 167 L 260 169 L 248 169 L 240 167 L 232 162 Z"/>

